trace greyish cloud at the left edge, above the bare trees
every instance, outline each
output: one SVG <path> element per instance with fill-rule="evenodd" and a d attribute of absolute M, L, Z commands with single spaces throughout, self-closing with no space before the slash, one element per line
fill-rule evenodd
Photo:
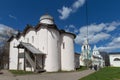
<path fill-rule="evenodd" d="M 12 34 L 16 34 L 16 33 L 17 31 L 15 31 L 13 28 L 6 26 L 4 24 L 0 24 L 0 42 L 5 41 Z"/>

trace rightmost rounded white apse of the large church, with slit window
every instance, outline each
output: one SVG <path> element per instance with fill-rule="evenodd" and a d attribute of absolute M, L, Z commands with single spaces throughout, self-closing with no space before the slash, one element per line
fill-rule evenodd
<path fill-rule="evenodd" d="M 64 33 L 61 35 L 61 39 L 61 70 L 74 70 L 74 37 L 73 35 Z"/>

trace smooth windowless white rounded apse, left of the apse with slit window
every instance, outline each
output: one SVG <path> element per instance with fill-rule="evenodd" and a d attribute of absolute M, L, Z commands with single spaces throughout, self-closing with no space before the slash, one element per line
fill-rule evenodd
<path fill-rule="evenodd" d="M 48 72 L 54 72 L 60 70 L 59 60 L 59 32 L 55 29 L 48 29 L 48 54 L 46 55 L 45 69 Z"/>

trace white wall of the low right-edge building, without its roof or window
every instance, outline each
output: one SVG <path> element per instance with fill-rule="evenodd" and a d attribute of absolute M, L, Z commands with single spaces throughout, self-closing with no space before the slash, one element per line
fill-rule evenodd
<path fill-rule="evenodd" d="M 115 58 L 120 59 L 120 54 L 110 54 L 109 55 L 110 65 L 113 67 L 120 67 L 120 61 L 114 61 Z"/>

